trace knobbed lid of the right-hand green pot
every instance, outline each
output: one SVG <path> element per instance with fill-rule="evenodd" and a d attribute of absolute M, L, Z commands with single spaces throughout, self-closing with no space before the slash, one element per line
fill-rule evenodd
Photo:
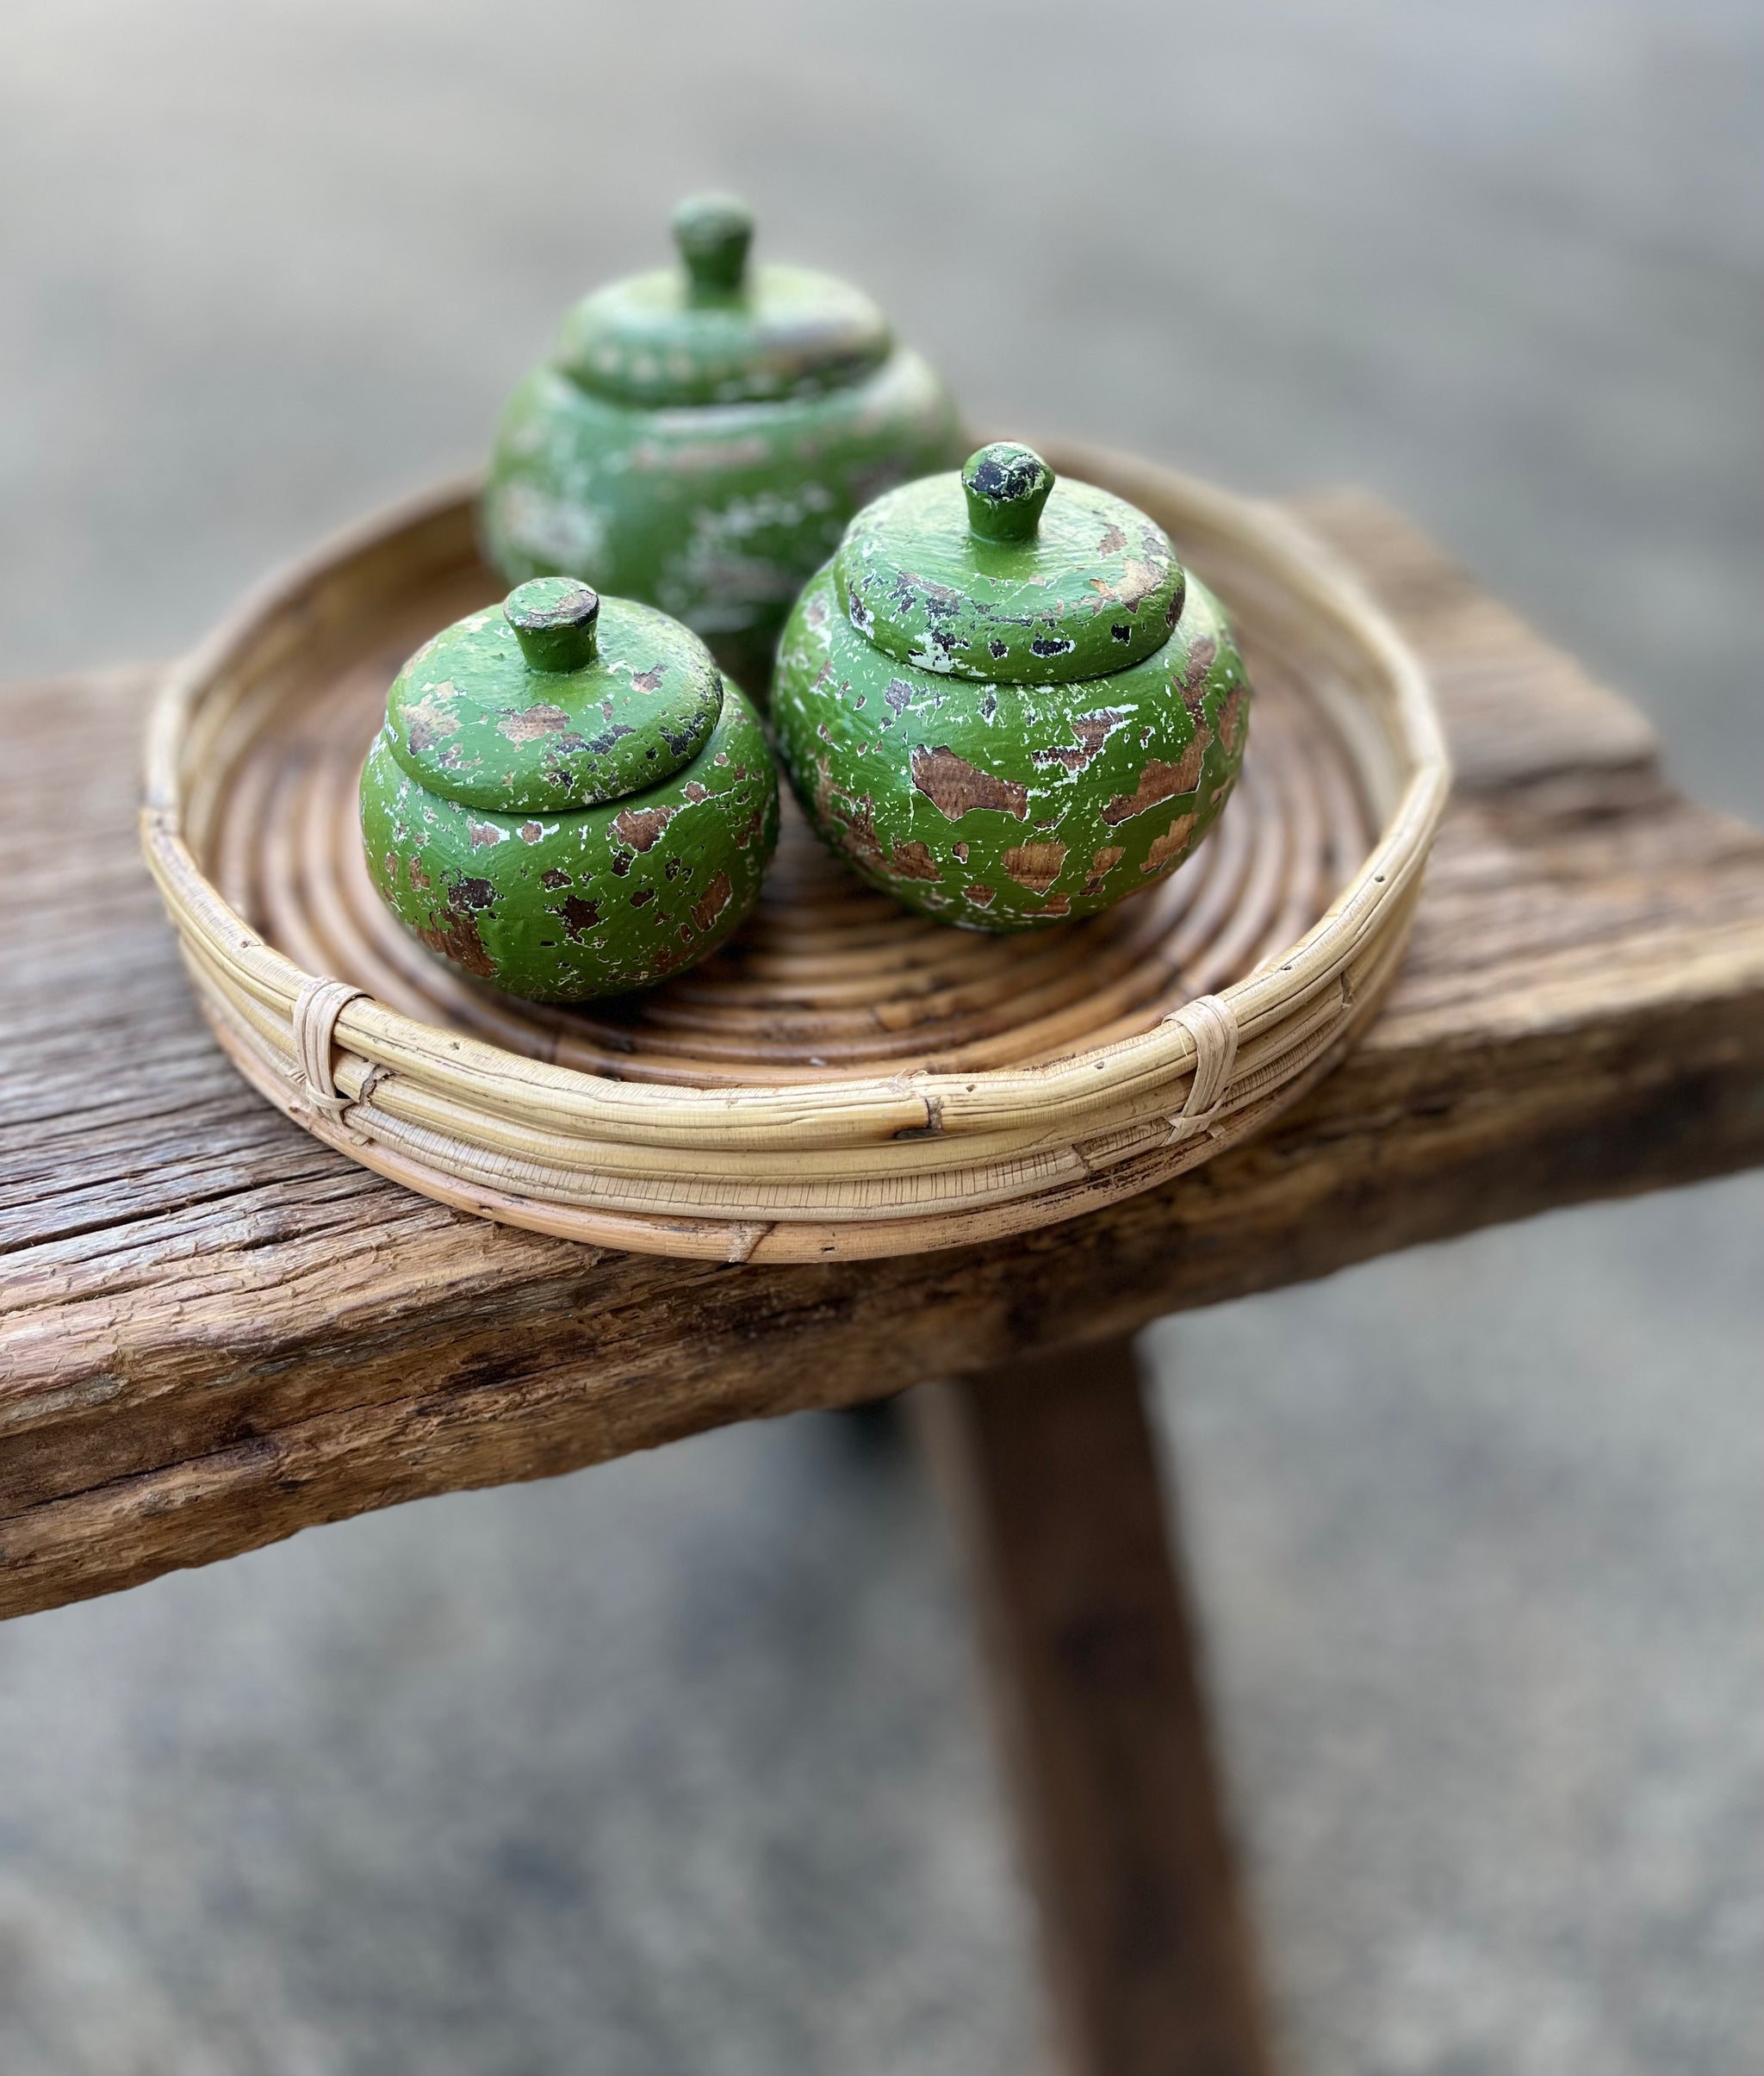
<path fill-rule="evenodd" d="M 1150 656 L 1183 610 L 1168 534 L 1125 498 L 1054 482 L 1000 442 L 961 473 L 867 504 L 834 558 L 838 602 L 884 656 L 948 677 L 1054 685 Z"/>

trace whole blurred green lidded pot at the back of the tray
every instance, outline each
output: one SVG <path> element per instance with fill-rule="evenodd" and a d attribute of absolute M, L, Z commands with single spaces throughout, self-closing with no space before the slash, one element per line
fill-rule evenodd
<path fill-rule="evenodd" d="M 764 698 L 784 614 L 870 498 L 961 457 L 948 390 L 828 274 L 747 266 L 749 212 L 674 212 L 681 266 L 585 297 L 515 390 L 481 504 L 511 581 L 643 598 Z"/>

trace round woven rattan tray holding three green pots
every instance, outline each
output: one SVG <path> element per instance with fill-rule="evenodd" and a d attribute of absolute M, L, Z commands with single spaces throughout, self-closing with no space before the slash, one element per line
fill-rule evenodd
<path fill-rule="evenodd" d="M 1243 637 L 1243 783 L 1179 874 L 977 936 L 859 886 L 787 808 L 755 918 L 664 988 L 540 1009 L 454 976 L 378 907 L 355 835 L 392 673 L 500 590 L 452 486 L 272 581 L 156 704 L 143 845 L 239 1069 L 446 1204 L 718 1260 L 1048 1225 L 1256 1131 L 1401 957 L 1449 785 L 1428 683 L 1274 507 L 1048 455 L 1152 513 Z"/>

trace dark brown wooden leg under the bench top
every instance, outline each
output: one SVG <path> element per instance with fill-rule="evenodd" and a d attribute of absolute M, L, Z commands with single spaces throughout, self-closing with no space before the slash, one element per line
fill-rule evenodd
<path fill-rule="evenodd" d="M 936 1387 L 1073 2076 L 1268 2076 L 1195 1623 L 1129 1341 Z"/>

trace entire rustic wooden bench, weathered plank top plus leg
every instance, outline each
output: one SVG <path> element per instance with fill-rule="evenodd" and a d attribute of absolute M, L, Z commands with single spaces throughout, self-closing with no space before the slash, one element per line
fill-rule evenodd
<path fill-rule="evenodd" d="M 0 700 L 0 1615 L 697 1428 L 944 1385 L 1071 2068 L 1266 2068 L 1129 1337 L 1764 1160 L 1764 837 L 1355 496 L 1459 785 L 1368 1040 L 1260 1142 L 1021 1239 L 685 1264 L 457 1217 L 224 1065 L 135 853 L 149 671 Z"/>

